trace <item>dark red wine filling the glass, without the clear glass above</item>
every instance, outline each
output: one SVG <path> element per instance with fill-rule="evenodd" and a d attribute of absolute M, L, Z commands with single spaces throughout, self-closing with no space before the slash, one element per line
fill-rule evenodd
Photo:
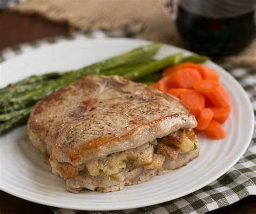
<path fill-rule="evenodd" d="M 254 10 L 237 17 L 210 18 L 178 6 L 176 25 L 188 49 L 208 56 L 237 54 L 256 36 Z"/>

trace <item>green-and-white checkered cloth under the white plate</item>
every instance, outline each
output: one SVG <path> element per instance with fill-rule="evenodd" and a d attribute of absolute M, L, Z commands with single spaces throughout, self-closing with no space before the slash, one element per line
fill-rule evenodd
<path fill-rule="evenodd" d="M 22 44 L 20 46 L 6 48 L 0 52 L 0 62 L 10 59 L 18 54 L 29 52 L 34 48 L 42 47 L 48 43 L 58 42 L 63 39 L 73 39 L 80 36 L 95 38 L 104 37 L 102 32 L 93 32 L 90 35 L 76 34 L 71 38 L 54 38 Z M 254 115 L 256 115 L 256 69 L 254 68 L 228 68 L 235 79 L 240 82 L 250 97 Z M 256 120 L 256 118 L 254 118 Z M 223 206 L 230 205 L 249 195 L 256 195 L 256 132 L 254 129 L 253 139 L 246 153 L 228 172 L 208 186 L 193 192 L 192 194 L 175 199 L 173 201 L 147 206 L 144 208 L 118 211 L 77 211 L 68 209 L 51 208 L 56 214 L 71 213 L 205 213 Z"/>

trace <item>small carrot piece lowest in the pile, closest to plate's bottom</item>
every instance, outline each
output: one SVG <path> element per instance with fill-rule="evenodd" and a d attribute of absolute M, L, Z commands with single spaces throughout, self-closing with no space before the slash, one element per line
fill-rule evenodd
<path fill-rule="evenodd" d="M 217 121 L 212 120 L 206 129 L 206 135 L 209 138 L 219 140 L 226 137 L 226 131 Z"/>

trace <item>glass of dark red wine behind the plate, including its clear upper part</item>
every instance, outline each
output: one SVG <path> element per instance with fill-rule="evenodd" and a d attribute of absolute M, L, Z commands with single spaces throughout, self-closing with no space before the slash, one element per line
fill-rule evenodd
<path fill-rule="evenodd" d="M 185 45 L 211 57 L 238 54 L 256 37 L 256 0 L 173 0 L 172 17 Z"/>

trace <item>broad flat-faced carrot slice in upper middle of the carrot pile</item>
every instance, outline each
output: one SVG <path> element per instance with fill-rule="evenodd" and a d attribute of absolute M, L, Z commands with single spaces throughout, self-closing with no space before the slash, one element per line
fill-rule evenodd
<path fill-rule="evenodd" d="M 170 75 L 169 85 L 171 88 L 192 88 L 193 84 L 202 80 L 198 70 L 183 68 L 177 73 Z"/>

